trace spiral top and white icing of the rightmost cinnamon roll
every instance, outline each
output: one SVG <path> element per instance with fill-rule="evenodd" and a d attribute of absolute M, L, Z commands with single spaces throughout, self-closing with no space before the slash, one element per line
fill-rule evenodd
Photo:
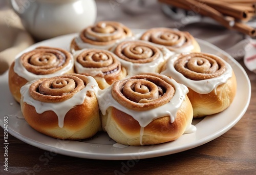
<path fill-rule="evenodd" d="M 185 67 L 177 68 L 176 64 L 182 58 L 184 58 L 184 61 L 180 62 L 183 65 L 185 64 Z M 186 58 L 188 60 L 185 60 Z M 181 72 L 188 71 L 186 73 L 187 76 L 193 76 L 193 79 L 187 78 L 184 74 L 177 71 L 177 69 L 181 69 Z M 166 69 L 161 74 L 178 80 L 199 94 L 208 94 L 211 91 L 216 91 L 218 85 L 226 83 L 231 78 L 232 68 L 225 60 L 216 55 L 208 53 L 184 53 L 174 55 L 170 58 L 166 62 Z"/>

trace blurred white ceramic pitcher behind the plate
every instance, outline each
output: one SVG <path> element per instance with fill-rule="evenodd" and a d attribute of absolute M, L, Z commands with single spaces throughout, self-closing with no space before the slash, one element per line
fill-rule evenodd
<path fill-rule="evenodd" d="M 97 14 L 94 0 L 11 0 L 11 6 L 38 40 L 80 32 Z"/>

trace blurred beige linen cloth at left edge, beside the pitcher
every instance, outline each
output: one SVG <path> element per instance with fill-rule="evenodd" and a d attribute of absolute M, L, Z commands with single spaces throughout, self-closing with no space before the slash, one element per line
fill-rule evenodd
<path fill-rule="evenodd" d="M 3 74 L 9 69 L 15 56 L 34 41 L 7 4 L 0 5 L 0 74 Z"/>

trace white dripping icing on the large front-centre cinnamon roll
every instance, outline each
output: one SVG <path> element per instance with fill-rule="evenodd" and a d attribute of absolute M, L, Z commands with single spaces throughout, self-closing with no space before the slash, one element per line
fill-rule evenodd
<path fill-rule="evenodd" d="M 153 108 L 152 110 L 148 111 L 134 111 L 130 110 L 121 104 L 119 104 L 111 94 L 112 85 L 98 92 L 98 102 L 99 108 L 103 115 L 106 114 L 106 110 L 113 106 L 118 110 L 132 116 L 135 120 L 137 120 L 140 126 L 145 127 L 149 123 L 151 123 L 154 119 L 169 116 L 170 122 L 174 122 L 176 118 L 177 111 L 181 106 L 182 102 L 185 100 L 185 96 L 188 93 L 188 89 L 185 85 L 177 83 L 173 79 L 169 79 L 168 77 L 164 78 L 165 81 L 172 84 L 175 88 L 175 94 L 173 98 L 166 104 L 159 106 L 157 108 Z"/>

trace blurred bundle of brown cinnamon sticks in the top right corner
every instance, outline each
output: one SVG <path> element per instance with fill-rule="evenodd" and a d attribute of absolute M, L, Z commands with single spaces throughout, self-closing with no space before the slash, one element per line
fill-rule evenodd
<path fill-rule="evenodd" d="M 246 24 L 256 16 L 256 0 L 158 0 L 173 7 L 211 17 L 228 29 L 250 36 L 256 30 Z"/>

